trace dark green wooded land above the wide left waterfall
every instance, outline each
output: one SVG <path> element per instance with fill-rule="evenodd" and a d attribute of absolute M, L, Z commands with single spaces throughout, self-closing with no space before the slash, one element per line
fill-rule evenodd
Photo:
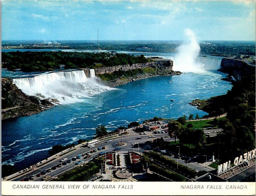
<path fill-rule="evenodd" d="M 134 56 L 119 53 L 88 53 L 88 52 L 2 52 L 2 66 L 8 70 L 20 69 L 21 71 L 53 71 L 64 65 L 70 68 L 92 68 L 94 63 L 104 67 L 147 63 L 150 59 L 144 55 Z"/>

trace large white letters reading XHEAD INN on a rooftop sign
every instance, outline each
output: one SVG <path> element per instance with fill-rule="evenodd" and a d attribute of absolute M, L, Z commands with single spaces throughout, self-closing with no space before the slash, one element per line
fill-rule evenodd
<path fill-rule="evenodd" d="M 235 160 L 234 160 L 234 165 L 239 165 L 240 163 L 243 163 L 247 160 L 250 160 L 252 159 L 253 157 L 255 157 L 255 148 L 254 150 L 251 150 L 250 152 L 248 153 L 244 153 L 243 155 L 240 155 L 240 157 L 236 157 Z M 218 172 L 217 174 L 221 174 L 222 172 L 225 172 L 227 171 L 228 169 L 230 169 L 230 163 L 231 161 L 228 161 L 226 163 L 223 163 L 221 165 L 218 166 Z"/>

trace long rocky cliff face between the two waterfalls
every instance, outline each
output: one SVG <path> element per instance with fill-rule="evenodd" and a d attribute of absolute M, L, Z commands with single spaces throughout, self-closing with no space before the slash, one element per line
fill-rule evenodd
<path fill-rule="evenodd" d="M 173 61 L 172 60 L 155 60 L 149 63 L 120 65 L 120 66 L 114 66 L 114 67 L 101 67 L 101 68 L 95 69 L 95 74 L 96 75 L 106 74 L 106 73 L 112 73 L 114 71 L 119 71 L 119 70 L 128 71 L 132 69 L 140 69 L 140 68 L 146 68 L 146 67 L 153 67 L 153 68 L 172 71 Z"/>

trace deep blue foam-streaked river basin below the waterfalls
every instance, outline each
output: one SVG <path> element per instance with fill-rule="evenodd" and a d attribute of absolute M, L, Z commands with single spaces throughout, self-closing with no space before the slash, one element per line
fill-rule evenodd
<path fill-rule="evenodd" d="M 39 114 L 2 121 L 2 161 L 18 169 L 48 157 L 56 144 L 92 138 L 100 124 L 108 130 L 143 122 L 154 116 L 178 118 L 207 113 L 190 106 L 230 90 L 230 82 L 218 71 L 152 77 L 119 86 L 82 102 L 55 106 Z M 169 81 L 172 81 L 171 83 Z M 173 99 L 174 102 L 170 101 Z M 15 133 L 15 134 L 14 134 Z"/>

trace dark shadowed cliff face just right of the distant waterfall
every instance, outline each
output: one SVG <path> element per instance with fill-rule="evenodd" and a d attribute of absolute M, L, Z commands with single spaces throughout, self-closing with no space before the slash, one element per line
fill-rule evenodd
<path fill-rule="evenodd" d="M 255 72 L 255 65 L 249 65 L 243 60 L 223 58 L 219 71 L 234 76 L 236 80 L 240 80 L 248 72 Z"/>

